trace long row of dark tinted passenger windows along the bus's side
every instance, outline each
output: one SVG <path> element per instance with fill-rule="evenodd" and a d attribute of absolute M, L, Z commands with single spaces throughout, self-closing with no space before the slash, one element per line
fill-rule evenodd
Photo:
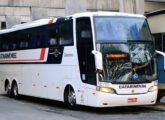
<path fill-rule="evenodd" d="M 0 40 L 1 51 L 73 45 L 73 22 L 61 23 L 60 27 L 59 24 L 49 24 L 3 34 Z"/>

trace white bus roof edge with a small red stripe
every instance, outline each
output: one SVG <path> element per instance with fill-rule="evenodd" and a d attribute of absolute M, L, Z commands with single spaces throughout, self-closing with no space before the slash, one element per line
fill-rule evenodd
<path fill-rule="evenodd" d="M 83 12 L 83 13 L 76 13 L 71 16 L 64 17 L 64 19 L 70 18 L 70 17 L 79 18 L 79 17 L 92 17 L 92 16 L 126 16 L 126 17 L 145 18 L 145 16 L 143 15 L 135 15 L 135 14 L 128 14 L 128 13 L 120 13 L 120 12 Z M 10 33 L 14 31 L 23 30 L 23 29 L 55 23 L 56 21 L 58 21 L 58 19 L 61 19 L 61 18 L 62 17 L 57 18 L 57 19 L 40 19 L 40 20 L 31 21 L 24 24 L 15 25 L 10 29 L 0 30 L 0 34 L 5 34 L 5 33 Z"/>

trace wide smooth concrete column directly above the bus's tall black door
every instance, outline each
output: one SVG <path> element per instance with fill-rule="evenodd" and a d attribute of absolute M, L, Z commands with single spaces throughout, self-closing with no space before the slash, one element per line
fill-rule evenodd
<path fill-rule="evenodd" d="M 66 0 L 66 16 L 86 11 L 87 0 Z"/>

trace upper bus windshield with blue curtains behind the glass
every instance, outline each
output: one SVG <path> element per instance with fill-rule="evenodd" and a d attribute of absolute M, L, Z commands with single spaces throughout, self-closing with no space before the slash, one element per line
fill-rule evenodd
<path fill-rule="evenodd" d="M 96 41 L 152 41 L 145 18 L 95 16 Z"/>

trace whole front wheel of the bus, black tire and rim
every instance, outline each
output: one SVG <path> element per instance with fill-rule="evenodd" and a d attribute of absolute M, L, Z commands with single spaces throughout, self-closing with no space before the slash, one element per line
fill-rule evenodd
<path fill-rule="evenodd" d="M 68 86 L 65 90 L 65 103 L 69 109 L 75 110 L 76 105 L 76 93 L 72 86 Z"/>

